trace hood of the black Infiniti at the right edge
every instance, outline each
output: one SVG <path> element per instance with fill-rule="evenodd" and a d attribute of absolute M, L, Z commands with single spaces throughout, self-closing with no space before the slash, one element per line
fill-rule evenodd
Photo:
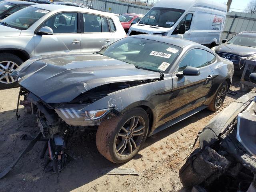
<path fill-rule="evenodd" d="M 224 43 L 218 46 L 215 49 L 215 52 L 224 52 L 224 53 L 235 54 L 235 55 L 244 57 L 244 56 L 250 56 L 256 53 L 256 48 Z"/>

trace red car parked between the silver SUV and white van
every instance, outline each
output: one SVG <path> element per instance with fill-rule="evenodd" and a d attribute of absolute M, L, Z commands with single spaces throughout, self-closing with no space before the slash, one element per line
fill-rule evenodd
<path fill-rule="evenodd" d="M 144 15 L 136 14 L 136 13 L 125 13 L 122 14 L 119 17 L 119 21 L 121 22 L 124 31 L 127 33 L 131 23 L 138 23 L 138 21 L 143 17 Z"/>

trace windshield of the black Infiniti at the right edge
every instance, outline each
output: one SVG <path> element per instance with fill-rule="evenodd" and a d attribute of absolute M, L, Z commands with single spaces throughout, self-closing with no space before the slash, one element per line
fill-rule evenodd
<path fill-rule="evenodd" d="M 248 35 L 236 35 L 231 38 L 228 44 L 256 47 L 256 37 Z"/>

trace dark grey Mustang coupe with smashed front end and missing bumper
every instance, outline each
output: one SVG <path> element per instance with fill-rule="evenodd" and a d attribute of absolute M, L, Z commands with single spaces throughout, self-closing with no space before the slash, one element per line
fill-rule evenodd
<path fill-rule="evenodd" d="M 233 74 L 232 62 L 205 46 L 138 35 L 95 54 L 32 58 L 16 76 L 21 103 L 26 112 L 37 114 L 42 136 L 65 148 L 72 134 L 96 128 L 99 152 L 123 163 L 147 136 L 204 108 L 217 111 Z M 65 162 L 63 153 L 60 148 L 50 157 L 57 154 Z"/>

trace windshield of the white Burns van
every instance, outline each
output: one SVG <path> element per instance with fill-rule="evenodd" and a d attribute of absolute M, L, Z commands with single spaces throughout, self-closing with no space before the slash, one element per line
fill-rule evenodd
<path fill-rule="evenodd" d="M 170 28 L 184 12 L 181 9 L 154 7 L 140 20 L 140 24 Z"/>

